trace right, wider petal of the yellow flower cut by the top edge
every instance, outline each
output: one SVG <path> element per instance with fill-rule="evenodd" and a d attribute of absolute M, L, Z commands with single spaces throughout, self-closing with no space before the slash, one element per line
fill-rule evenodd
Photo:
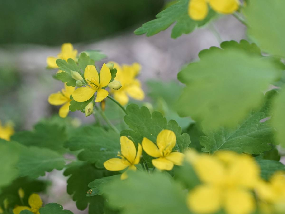
<path fill-rule="evenodd" d="M 239 9 L 239 0 L 209 0 L 213 10 L 219 13 L 233 13 Z"/>

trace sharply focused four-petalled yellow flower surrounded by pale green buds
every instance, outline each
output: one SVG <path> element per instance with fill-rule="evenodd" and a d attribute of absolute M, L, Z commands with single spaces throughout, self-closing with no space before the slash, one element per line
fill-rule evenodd
<path fill-rule="evenodd" d="M 94 65 L 87 65 L 84 71 L 84 78 L 89 86 L 77 88 L 72 93 L 73 99 L 77 102 L 84 102 L 89 100 L 97 91 L 95 102 L 104 100 L 109 95 L 109 92 L 103 89 L 103 87 L 107 86 L 112 78 L 110 69 L 105 63 L 103 64 L 99 75 Z"/>

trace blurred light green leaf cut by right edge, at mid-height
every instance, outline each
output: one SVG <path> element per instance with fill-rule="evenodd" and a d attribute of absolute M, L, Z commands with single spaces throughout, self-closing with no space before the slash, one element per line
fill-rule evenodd
<path fill-rule="evenodd" d="M 276 141 L 285 148 L 285 88 L 283 88 L 273 103 L 272 125 L 276 128 Z"/>

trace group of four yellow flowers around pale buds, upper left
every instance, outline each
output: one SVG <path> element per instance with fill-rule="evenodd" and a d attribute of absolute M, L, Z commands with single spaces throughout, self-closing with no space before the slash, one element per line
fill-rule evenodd
<path fill-rule="evenodd" d="M 46 62 L 49 68 L 58 68 L 56 64 L 57 59 L 68 60 L 68 58 L 71 58 L 73 60 L 76 60 L 76 57 L 77 50 L 73 49 L 72 44 L 64 43 L 61 47 L 61 53 L 58 54 L 58 57 L 50 56 L 47 58 Z M 127 95 L 136 100 L 143 100 L 144 92 L 141 89 L 139 80 L 136 79 L 136 76 L 141 70 L 141 65 L 134 63 L 132 65 L 120 66 L 116 62 L 110 63 L 113 63 L 113 68 L 117 69 L 115 81 L 121 86 L 112 87 L 113 89 L 110 91 L 111 94 L 113 94 L 115 100 L 117 100 L 121 105 L 126 105 L 129 102 Z M 58 72 L 64 71 L 59 70 Z M 65 84 L 62 91 L 51 94 L 49 96 L 48 102 L 50 104 L 63 105 L 59 110 L 60 117 L 65 118 L 68 115 L 71 95 L 77 102 L 84 102 L 86 100 L 89 100 L 95 92 L 97 92 L 95 102 L 101 102 L 109 95 L 109 92 L 105 90 L 105 88 L 107 86 L 111 87 L 111 85 L 109 85 L 109 82 L 111 80 L 111 72 L 110 68 L 105 63 L 103 64 L 99 74 L 94 65 L 88 65 L 84 70 L 84 78 L 87 82 L 87 85 L 79 87 L 75 90 L 75 87 L 66 86 Z"/>

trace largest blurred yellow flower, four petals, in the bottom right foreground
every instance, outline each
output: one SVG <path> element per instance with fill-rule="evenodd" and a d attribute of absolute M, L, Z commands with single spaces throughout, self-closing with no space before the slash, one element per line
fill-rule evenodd
<path fill-rule="evenodd" d="M 186 154 L 202 182 L 188 195 L 188 206 L 195 213 L 249 214 L 255 210 L 251 190 L 259 181 L 257 163 L 247 155 L 233 152 Z"/>

